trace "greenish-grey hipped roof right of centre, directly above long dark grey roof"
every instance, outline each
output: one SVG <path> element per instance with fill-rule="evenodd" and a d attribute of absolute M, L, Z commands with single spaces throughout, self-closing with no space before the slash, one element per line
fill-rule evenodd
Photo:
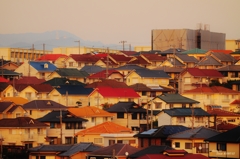
<path fill-rule="evenodd" d="M 196 100 L 193 100 L 175 93 L 164 93 L 160 96 L 157 96 L 156 98 L 159 98 L 166 103 L 185 103 L 185 104 L 199 103 Z"/>

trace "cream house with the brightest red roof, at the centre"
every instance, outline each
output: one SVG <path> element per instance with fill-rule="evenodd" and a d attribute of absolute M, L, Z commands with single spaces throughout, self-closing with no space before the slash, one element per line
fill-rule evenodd
<path fill-rule="evenodd" d="M 90 88 L 89 88 L 90 89 Z M 139 95 L 132 88 L 98 87 L 88 96 L 89 105 L 115 104 L 119 101 L 134 101 L 137 103 Z"/>

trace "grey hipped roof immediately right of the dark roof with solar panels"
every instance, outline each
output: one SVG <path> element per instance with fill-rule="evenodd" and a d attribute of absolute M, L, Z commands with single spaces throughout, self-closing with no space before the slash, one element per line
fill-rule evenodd
<path fill-rule="evenodd" d="M 220 132 L 206 128 L 206 127 L 198 127 L 194 129 L 189 129 L 186 131 L 182 131 L 173 135 L 168 136 L 169 139 L 207 139 L 212 136 L 218 135 Z"/>

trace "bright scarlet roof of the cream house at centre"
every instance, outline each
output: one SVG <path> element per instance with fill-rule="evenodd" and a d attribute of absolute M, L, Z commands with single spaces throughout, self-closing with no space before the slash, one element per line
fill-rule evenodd
<path fill-rule="evenodd" d="M 105 98 L 138 98 L 140 97 L 132 88 L 111 88 L 111 87 L 98 87 L 98 92 Z"/>

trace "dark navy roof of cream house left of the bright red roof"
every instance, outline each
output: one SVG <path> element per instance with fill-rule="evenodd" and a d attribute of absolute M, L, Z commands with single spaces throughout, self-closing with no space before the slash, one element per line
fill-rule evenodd
<path fill-rule="evenodd" d="M 93 88 L 85 88 L 83 85 L 60 85 L 55 88 L 60 94 L 69 95 L 89 95 L 92 93 Z"/>

